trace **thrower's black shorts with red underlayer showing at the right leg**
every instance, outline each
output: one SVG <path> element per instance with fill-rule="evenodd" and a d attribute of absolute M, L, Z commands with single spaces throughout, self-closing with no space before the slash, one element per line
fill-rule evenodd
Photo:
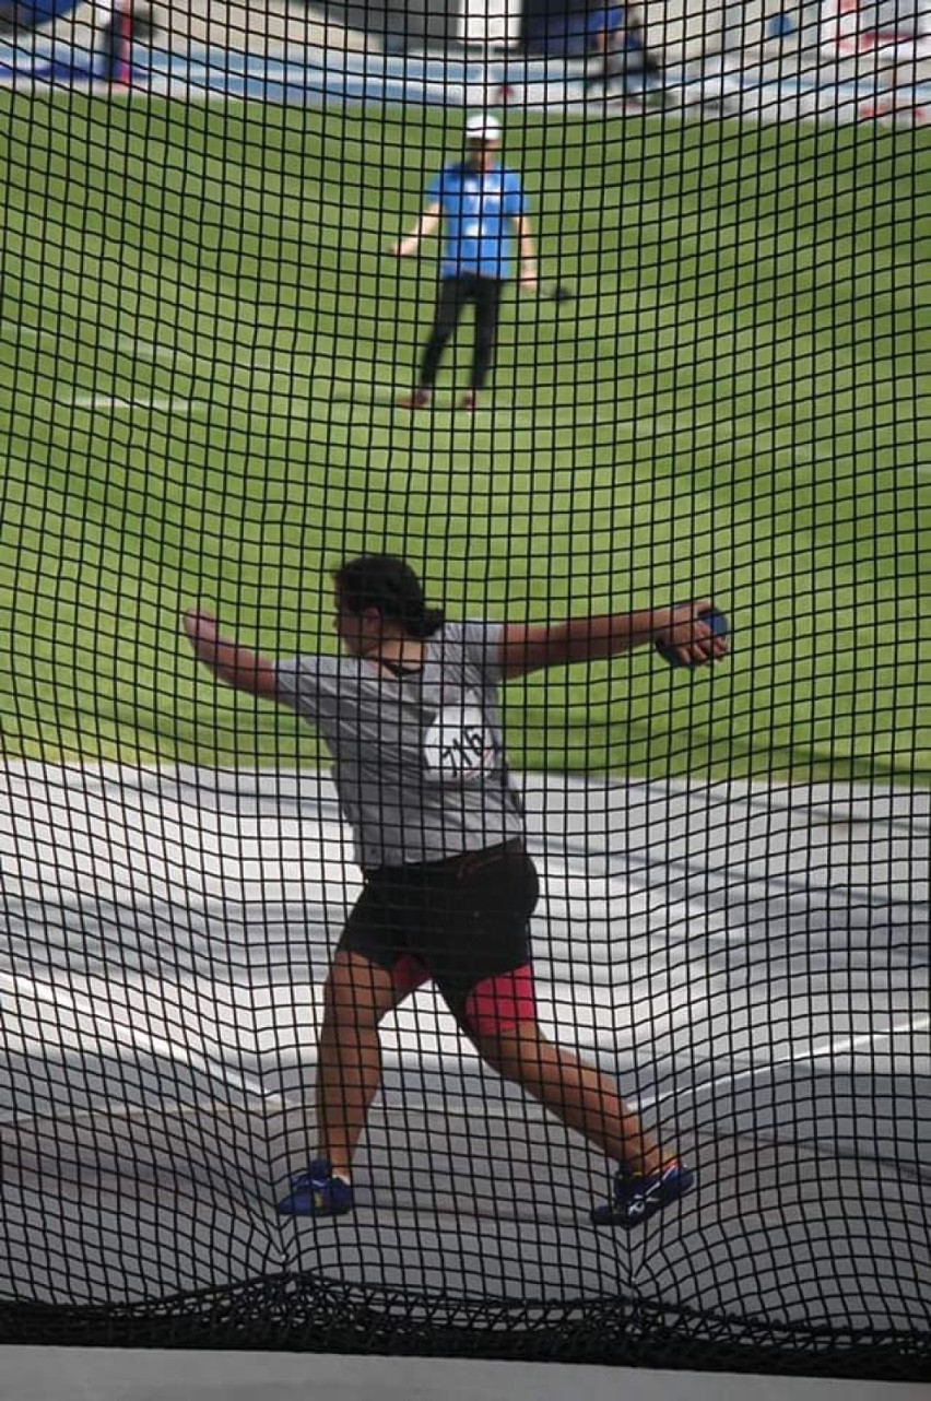
<path fill-rule="evenodd" d="M 365 874 L 339 941 L 395 976 L 399 993 L 431 978 L 458 1021 L 501 1028 L 535 1016 L 529 918 L 536 867 L 508 842 L 442 862 Z"/>

